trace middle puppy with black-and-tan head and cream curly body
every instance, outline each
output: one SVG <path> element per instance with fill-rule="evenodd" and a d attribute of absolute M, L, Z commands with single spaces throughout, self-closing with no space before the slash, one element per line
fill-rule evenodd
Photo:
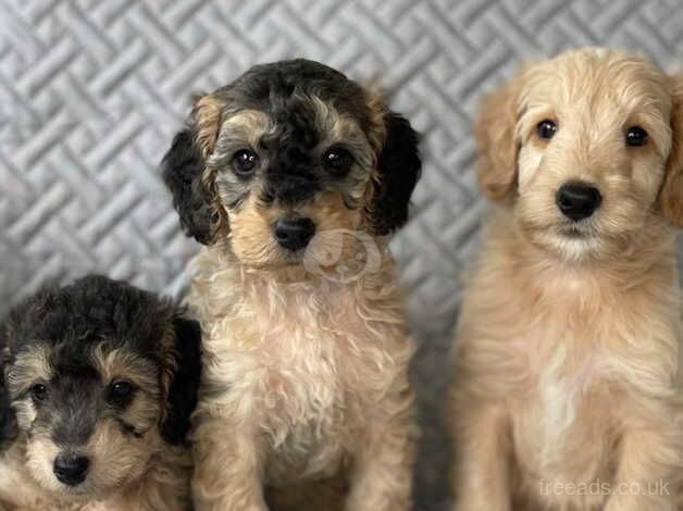
<path fill-rule="evenodd" d="M 407 509 L 409 339 L 386 235 L 421 162 L 409 122 L 307 60 L 199 96 L 163 161 L 206 245 L 194 423 L 199 510 L 263 510 L 272 488 L 348 475 L 347 509 Z"/>

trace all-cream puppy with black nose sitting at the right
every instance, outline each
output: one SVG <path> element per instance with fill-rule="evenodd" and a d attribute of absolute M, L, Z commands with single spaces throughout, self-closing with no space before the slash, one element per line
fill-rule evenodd
<path fill-rule="evenodd" d="M 571 51 L 488 97 L 476 137 L 494 208 L 457 332 L 456 509 L 678 509 L 683 77 Z"/>

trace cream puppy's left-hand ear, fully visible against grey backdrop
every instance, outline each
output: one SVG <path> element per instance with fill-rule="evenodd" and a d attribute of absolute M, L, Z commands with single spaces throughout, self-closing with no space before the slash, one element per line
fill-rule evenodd
<path fill-rule="evenodd" d="M 517 76 L 485 97 L 474 126 L 480 186 L 494 201 L 507 198 L 517 179 L 521 82 L 521 75 Z"/>

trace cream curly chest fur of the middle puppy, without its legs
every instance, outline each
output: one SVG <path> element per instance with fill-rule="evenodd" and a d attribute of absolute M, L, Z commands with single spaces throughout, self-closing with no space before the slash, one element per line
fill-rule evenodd
<path fill-rule="evenodd" d="M 276 481 L 338 468 L 412 350 L 393 278 L 278 282 L 213 269 L 190 301 L 204 328 L 203 400 L 236 427 L 258 424 Z"/>

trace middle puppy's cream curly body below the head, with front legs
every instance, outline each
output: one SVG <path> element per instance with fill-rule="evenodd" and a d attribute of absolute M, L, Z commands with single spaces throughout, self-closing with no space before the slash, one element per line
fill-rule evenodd
<path fill-rule="evenodd" d="M 262 486 L 338 473 L 349 509 L 408 509 L 412 344 L 387 258 L 356 285 L 283 282 L 218 249 L 195 260 L 204 325 L 198 509 L 264 509 Z"/>

